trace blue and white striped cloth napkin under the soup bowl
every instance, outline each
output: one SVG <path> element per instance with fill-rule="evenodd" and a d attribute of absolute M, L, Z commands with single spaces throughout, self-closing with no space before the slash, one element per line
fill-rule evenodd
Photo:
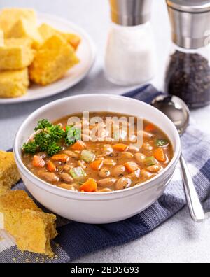
<path fill-rule="evenodd" d="M 161 92 L 148 85 L 129 92 L 125 96 L 150 103 L 158 94 Z M 204 201 L 204 207 L 209 209 L 210 136 L 190 125 L 181 142 L 197 192 L 200 199 Z M 22 182 L 18 183 L 14 189 L 26 190 Z M 17 250 L 13 238 L 6 232 L 0 231 L 0 262 L 71 262 L 87 253 L 139 239 L 171 218 L 184 206 L 186 206 L 186 197 L 178 167 L 165 194 L 153 206 L 133 218 L 107 225 L 86 225 L 70 222 L 58 216 L 59 236 L 52 241 L 52 248 L 56 254 L 53 260 L 33 253 L 20 252 Z M 44 208 L 43 210 L 45 211 Z"/>

